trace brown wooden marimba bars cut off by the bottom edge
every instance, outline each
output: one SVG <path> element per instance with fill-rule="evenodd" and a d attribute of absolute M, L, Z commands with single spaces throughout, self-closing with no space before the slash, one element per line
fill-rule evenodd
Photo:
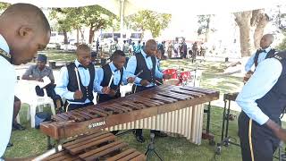
<path fill-rule="evenodd" d="M 118 140 L 108 131 L 89 132 L 62 145 L 62 149 L 50 156 L 36 157 L 43 161 L 145 161 L 146 157 L 135 148 L 127 148 L 127 143 Z"/>

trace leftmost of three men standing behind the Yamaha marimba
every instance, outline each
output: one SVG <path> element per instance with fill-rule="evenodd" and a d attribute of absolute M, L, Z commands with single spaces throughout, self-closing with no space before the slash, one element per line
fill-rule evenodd
<path fill-rule="evenodd" d="M 77 59 L 61 69 L 55 87 L 57 95 L 64 97 L 65 110 L 94 105 L 93 89 L 96 84 L 95 66 L 90 62 L 90 48 L 82 44 L 76 50 Z"/>

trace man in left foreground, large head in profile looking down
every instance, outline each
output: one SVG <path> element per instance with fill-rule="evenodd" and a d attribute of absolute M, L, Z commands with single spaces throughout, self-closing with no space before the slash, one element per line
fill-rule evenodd
<path fill-rule="evenodd" d="M 13 64 L 27 64 L 46 47 L 50 26 L 45 14 L 32 4 L 12 4 L 0 15 L 0 157 L 4 155 L 13 122 L 16 74 Z M 0 158 L 1 160 L 1 158 Z"/>

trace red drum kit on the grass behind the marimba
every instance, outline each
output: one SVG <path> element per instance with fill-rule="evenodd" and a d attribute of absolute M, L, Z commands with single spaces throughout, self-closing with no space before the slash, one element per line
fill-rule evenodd
<path fill-rule="evenodd" d="M 171 79 L 163 81 L 164 84 L 175 86 L 196 85 L 197 69 L 192 71 L 166 69 L 163 73 L 171 75 Z"/>

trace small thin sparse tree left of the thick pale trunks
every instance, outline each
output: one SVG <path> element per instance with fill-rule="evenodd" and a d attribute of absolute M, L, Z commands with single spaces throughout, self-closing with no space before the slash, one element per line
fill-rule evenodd
<path fill-rule="evenodd" d="M 199 27 L 198 27 L 198 36 L 205 34 L 205 42 L 208 39 L 208 34 L 209 31 L 213 31 L 214 32 L 214 28 L 209 27 L 209 23 L 211 21 L 211 17 L 214 17 L 214 15 L 212 14 L 207 14 L 207 15 L 198 15 L 198 23 L 199 23 Z"/>

